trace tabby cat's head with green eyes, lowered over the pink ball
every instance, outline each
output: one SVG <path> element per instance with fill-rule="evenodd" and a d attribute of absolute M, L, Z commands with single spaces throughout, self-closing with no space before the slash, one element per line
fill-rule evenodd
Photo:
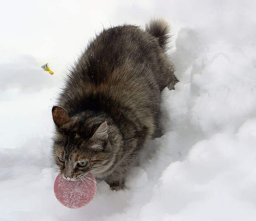
<path fill-rule="evenodd" d="M 111 167 L 114 155 L 106 121 L 83 113 L 69 118 L 58 106 L 52 108 L 52 118 L 56 125 L 53 157 L 64 179 L 82 179 L 88 172 L 97 176 Z"/>

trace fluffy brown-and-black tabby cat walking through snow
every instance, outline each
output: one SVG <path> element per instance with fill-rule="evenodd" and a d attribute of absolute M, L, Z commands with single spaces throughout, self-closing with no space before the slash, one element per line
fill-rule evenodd
<path fill-rule="evenodd" d="M 52 108 L 53 156 L 62 176 L 88 172 L 112 189 L 125 186 L 130 165 L 159 127 L 165 87 L 178 82 L 166 54 L 169 26 L 103 30 L 72 66 Z"/>

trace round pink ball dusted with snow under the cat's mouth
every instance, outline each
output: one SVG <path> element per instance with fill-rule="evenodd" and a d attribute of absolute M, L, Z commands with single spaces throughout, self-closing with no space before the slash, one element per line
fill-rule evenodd
<path fill-rule="evenodd" d="M 91 173 L 86 177 L 88 182 L 83 179 L 68 181 L 59 174 L 54 183 L 54 193 L 57 200 L 65 207 L 72 209 L 88 204 L 96 192 L 96 181 Z"/>

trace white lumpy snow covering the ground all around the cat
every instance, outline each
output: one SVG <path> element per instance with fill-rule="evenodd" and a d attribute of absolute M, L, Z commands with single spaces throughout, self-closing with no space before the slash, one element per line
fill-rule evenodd
<path fill-rule="evenodd" d="M 253 0 L 3 2 L 0 220 L 255 221 L 255 12 Z M 163 92 L 164 135 L 147 142 L 125 190 L 102 181 L 92 202 L 68 209 L 50 160 L 62 76 L 102 26 L 154 16 L 173 26 L 180 80 Z"/>

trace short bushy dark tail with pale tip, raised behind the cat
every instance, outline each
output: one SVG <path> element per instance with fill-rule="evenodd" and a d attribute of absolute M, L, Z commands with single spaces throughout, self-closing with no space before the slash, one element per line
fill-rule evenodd
<path fill-rule="evenodd" d="M 168 33 L 171 31 L 169 24 L 163 19 L 152 19 L 149 24 L 146 24 L 146 31 L 157 38 L 160 47 L 166 49 L 166 45 L 170 38 Z"/>

